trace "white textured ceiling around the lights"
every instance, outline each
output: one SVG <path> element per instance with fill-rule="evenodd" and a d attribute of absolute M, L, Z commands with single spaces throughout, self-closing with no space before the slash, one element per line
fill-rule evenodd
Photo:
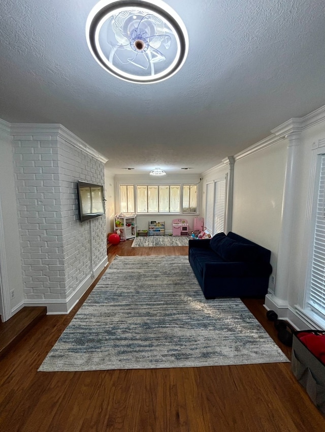
<path fill-rule="evenodd" d="M 60 123 L 114 173 L 201 173 L 325 105 L 324 0 L 166 3 L 187 27 L 187 59 L 166 81 L 136 84 L 88 50 L 96 0 L 2 0 L 0 118 Z"/>

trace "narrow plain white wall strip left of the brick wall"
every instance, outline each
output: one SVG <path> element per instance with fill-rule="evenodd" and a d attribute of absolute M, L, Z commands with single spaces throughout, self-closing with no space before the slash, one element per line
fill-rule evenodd
<path fill-rule="evenodd" d="M 8 132 L 6 132 L 6 129 Z M 20 260 L 20 245 L 18 234 L 18 217 L 16 191 L 14 183 L 14 163 L 10 125 L 0 120 L 0 201 L 4 234 L 4 244 L 1 244 L 5 255 L 5 262 L 1 263 L 3 275 L 7 275 L 7 289 L 14 290 L 14 298 L 10 299 L 11 313 L 15 313 L 22 307 L 23 284 Z M 10 293 L 7 293 L 10 296 Z"/>

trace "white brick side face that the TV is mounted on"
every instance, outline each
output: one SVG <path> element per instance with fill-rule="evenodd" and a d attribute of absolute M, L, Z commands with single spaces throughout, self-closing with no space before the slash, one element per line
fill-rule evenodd
<path fill-rule="evenodd" d="M 104 164 L 80 148 L 59 139 L 58 159 L 61 179 L 62 233 L 66 266 L 66 295 L 69 297 L 106 254 L 106 220 L 99 217 L 80 223 L 77 181 L 105 183 Z M 90 241 L 90 224 L 92 242 Z M 92 243 L 92 251 L 90 246 Z"/>

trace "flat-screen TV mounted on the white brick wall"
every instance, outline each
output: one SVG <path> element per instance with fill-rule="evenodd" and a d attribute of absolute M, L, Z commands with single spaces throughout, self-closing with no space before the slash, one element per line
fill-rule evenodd
<path fill-rule="evenodd" d="M 78 181 L 78 194 L 81 222 L 105 214 L 104 187 L 101 184 Z"/>

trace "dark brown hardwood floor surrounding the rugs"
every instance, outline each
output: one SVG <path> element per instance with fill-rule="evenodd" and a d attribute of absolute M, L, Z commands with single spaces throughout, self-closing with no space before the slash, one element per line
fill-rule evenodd
<path fill-rule="evenodd" d="M 187 255 L 186 247 L 108 249 Z M 43 318 L 0 361 L 2 432 L 321 432 L 325 417 L 290 363 L 92 372 L 37 372 L 90 290 L 68 315 Z M 243 299 L 277 341 L 263 301 Z"/>

